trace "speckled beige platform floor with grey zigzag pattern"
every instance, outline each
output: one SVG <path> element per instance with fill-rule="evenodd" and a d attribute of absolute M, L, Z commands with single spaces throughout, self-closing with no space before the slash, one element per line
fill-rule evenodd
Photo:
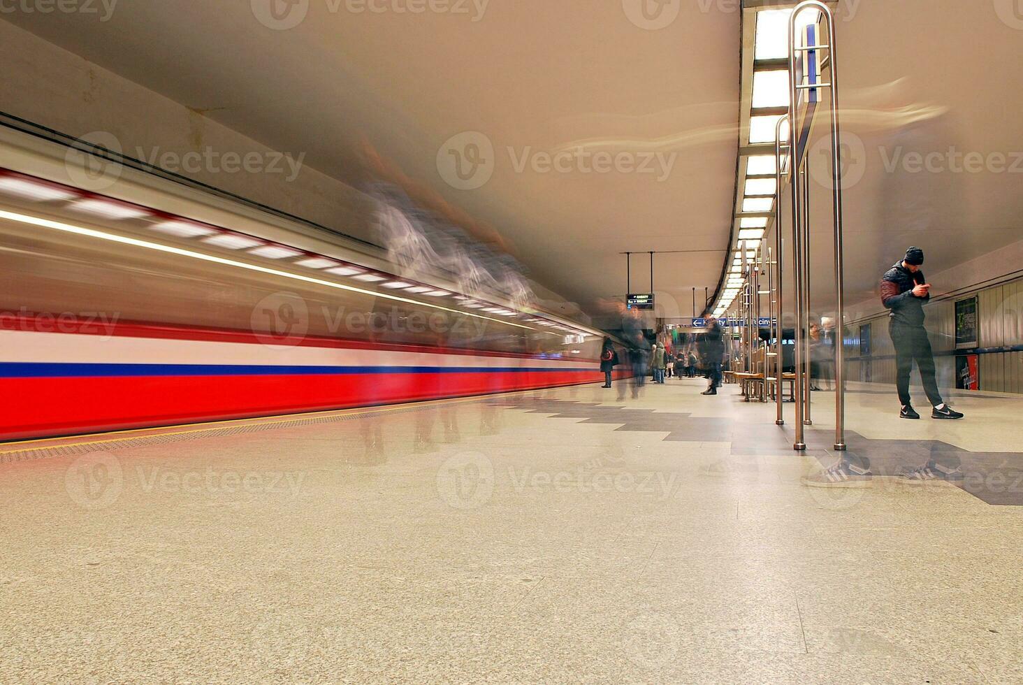
<path fill-rule="evenodd" d="M 800 456 L 703 387 L 2 446 L 0 682 L 1023 682 L 1023 398 L 854 388 L 968 481 L 821 490 L 830 393 Z"/>

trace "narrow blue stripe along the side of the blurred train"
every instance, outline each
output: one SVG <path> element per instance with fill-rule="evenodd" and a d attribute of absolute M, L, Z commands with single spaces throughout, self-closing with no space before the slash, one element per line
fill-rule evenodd
<path fill-rule="evenodd" d="M 82 378 L 124 376 L 313 376 L 344 374 L 472 374 L 523 372 L 593 373 L 571 367 L 295 367 L 206 363 L 48 363 L 0 362 L 0 378 Z"/>

